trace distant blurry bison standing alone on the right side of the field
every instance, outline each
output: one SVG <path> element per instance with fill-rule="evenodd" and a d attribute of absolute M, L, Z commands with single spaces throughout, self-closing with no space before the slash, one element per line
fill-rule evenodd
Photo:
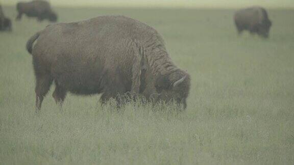
<path fill-rule="evenodd" d="M 247 30 L 251 34 L 256 33 L 264 38 L 268 37 L 269 28 L 272 25 L 265 9 L 261 7 L 241 9 L 235 13 L 234 20 L 239 34 Z"/>

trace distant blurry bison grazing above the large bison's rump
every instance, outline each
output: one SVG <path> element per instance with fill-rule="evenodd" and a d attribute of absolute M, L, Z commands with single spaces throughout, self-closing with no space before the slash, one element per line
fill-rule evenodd
<path fill-rule="evenodd" d="M 18 12 L 17 20 L 20 20 L 22 14 L 26 14 L 28 17 L 37 17 L 39 21 L 44 19 L 48 19 L 51 22 L 57 21 L 57 15 L 46 1 L 20 2 L 16 5 L 16 9 Z"/>

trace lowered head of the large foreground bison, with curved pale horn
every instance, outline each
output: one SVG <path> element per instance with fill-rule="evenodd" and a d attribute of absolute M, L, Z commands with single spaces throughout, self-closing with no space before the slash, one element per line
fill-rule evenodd
<path fill-rule="evenodd" d="M 156 101 L 175 101 L 178 105 L 187 107 L 186 99 L 190 90 L 190 76 L 183 71 L 161 75 L 156 80 Z"/>

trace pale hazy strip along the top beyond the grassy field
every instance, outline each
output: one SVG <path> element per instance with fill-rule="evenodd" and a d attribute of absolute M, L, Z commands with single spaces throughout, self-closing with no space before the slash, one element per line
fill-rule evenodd
<path fill-rule="evenodd" d="M 26 1 L 26 0 L 25 0 Z M 64 7 L 166 7 L 166 8 L 240 8 L 259 5 L 265 8 L 294 8 L 292 0 L 48 0 L 53 6 Z M 3 5 L 14 5 L 19 0 L 2 0 Z"/>

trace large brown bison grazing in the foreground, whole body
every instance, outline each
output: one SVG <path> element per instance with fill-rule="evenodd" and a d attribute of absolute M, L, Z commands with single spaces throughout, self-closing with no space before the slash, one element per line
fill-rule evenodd
<path fill-rule="evenodd" d="M 36 41 L 35 45 L 33 43 Z M 174 100 L 186 107 L 190 76 L 170 59 L 156 30 L 125 16 L 100 16 L 47 26 L 27 42 L 36 76 L 36 111 L 53 80 L 53 97 L 67 92 Z"/>

